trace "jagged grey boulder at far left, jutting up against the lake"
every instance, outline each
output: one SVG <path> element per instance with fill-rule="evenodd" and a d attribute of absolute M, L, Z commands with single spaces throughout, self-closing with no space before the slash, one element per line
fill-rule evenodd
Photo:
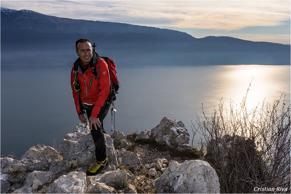
<path fill-rule="evenodd" d="M 21 160 L 62 160 L 62 157 L 57 150 L 50 146 L 45 146 L 43 144 L 37 144 L 36 146 L 32 146 L 25 152 L 25 154 L 21 157 Z"/>

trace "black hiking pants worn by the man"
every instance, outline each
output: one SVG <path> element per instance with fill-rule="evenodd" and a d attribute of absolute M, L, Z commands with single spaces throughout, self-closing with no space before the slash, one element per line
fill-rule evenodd
<path fill-rule="evenodd" d="M 95 129 L 94 124 L 92 124 L 91 135 L 95 144 L 95 156 L 98 162 L 101 162 L 106 159 L 106 145 L 104 139 L 105 130 L 103 128 L 103 119 L 106 117 L 107 112 L 110 109 L 110 104 L 106 104 L 101 108 L 101 111 L 97 118 L 101 122 L 101 128 L 97 127 Z M 92 114 L 92 110 L 86 110 L 88 119 Z"/>

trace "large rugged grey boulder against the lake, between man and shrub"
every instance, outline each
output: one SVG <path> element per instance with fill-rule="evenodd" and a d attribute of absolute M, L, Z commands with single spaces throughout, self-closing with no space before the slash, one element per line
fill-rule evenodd
<path fill-rule="evenodd" d="M 176 148 L 189 142 L 187 128 L 182 121 L 177 121 L 164 117 L 160 123 L 151 130 L 151 135 L 158 144 Z"/>

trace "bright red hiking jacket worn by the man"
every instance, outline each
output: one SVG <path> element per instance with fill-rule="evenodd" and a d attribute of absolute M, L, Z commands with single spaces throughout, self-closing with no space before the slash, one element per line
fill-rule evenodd
<path fill-rule="evenodd" d="M 95 75 L 92 73 L 95 65 L 100 67 L 99 79 L 95 79 Z M 97 57 L 94 53 L 87 68 L 87 70 L 82 68 L 80 58 L 76 60 L 71 71 L 71 88 L 73 90 L 73 98 L 77 113 L 80 114 L 83 112 L 83 106 L 79 103 L 78 94 L 74 85 L 74 73 L 77 72 L 77 79 L 80 82 L 81 89 L 79 94 L 80 99 L 84 103 L 95 105 L 92 110 L 92 116 L 97 118 L 100 109 L 103 107 L 108 95 L 110 94 L 109 70 L 107 63 L 102 58 Z"/>

